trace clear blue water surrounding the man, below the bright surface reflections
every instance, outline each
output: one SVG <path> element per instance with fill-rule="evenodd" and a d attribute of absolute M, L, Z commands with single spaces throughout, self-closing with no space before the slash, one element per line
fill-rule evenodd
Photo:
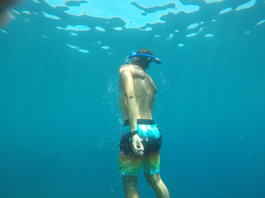
<path fill-rule="evenodd" d="M 182 1 L 200 10 L 163 16 L 166 23 L 149 25 L 151 31 L 115 31 L 121 19 L 76 17 L 40 2 L 15 7 L 39 15 L 17 15 L 8 33 L 0 32 L 0 197 L 124 196 L 118 69 L 140 48 L 163 61 L 147 72 L 158 87 L 153 119 L 162 129 L 160 175 L 171 197 L 264 197 L 265 24 L 256 25 L 263 1 L 223 15 L 247 1 Z M 198 21 L 202 33 L 185 37 Z M 73 37 L 55 28 L 69 22 L 106 32 Z M 180 32 L 166 40 L 176 27 Z M 138 189 L 155 197 L 142 173 Z"/>

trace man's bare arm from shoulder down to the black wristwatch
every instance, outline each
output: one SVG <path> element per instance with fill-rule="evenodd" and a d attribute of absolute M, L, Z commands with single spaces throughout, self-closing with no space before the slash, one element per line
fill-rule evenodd
<path fill-rule="evenodd" d="M 130 129 L 131 131 L 135 131 L 137 129 L 137 111 L 130 66 L 122 66 L 120 68 L 120 78 L 122 82 L 124 104 L 126 113 L 128 115 Z"/>

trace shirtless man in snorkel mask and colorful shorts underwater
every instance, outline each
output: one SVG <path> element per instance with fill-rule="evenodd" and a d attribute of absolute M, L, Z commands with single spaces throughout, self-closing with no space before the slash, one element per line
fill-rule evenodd
<path fill-rule="evenodd" d="M 120 67 L 120 108 L 124 128 L 118 165 L 123 175 L 126 198 L 139 197 L 137 179 L 141 166 L 157 197 L 170 197 L 159 174 L 162 135 L 152 117 L 157 88 L 146 73 L 152 61 L 162 63 L 149 49 L 139 49 L 136 53 L 132 51 L 126 58 L 126 64 Z"/>

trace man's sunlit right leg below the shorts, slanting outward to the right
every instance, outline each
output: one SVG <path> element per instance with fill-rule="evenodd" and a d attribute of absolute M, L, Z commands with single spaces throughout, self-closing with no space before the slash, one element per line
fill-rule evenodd
<path fill-rule="evenodd" d="M 147 183 L 153 188 L 158 198 L 169 198 L 169 192 L 166 185 L 162 182 L 159 173 L 144 174 Z"/>

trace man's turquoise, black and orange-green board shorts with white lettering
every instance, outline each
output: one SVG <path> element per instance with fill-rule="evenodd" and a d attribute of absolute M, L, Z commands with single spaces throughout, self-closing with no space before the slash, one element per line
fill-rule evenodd
<path fill-rule="evenodd" d="M 160 162 L 159 149 L 162 145 L 161 130 L 153 120 L 148 119 L 137 119 L 137 130 L 144 146 L 144 154 L 134 154 L 129 136 L 130 125 L 126 120 L 120 142 L 119 170 L 122 175 L 138 175 L 142 166 L 144 173 L 157 174 Z"/>

